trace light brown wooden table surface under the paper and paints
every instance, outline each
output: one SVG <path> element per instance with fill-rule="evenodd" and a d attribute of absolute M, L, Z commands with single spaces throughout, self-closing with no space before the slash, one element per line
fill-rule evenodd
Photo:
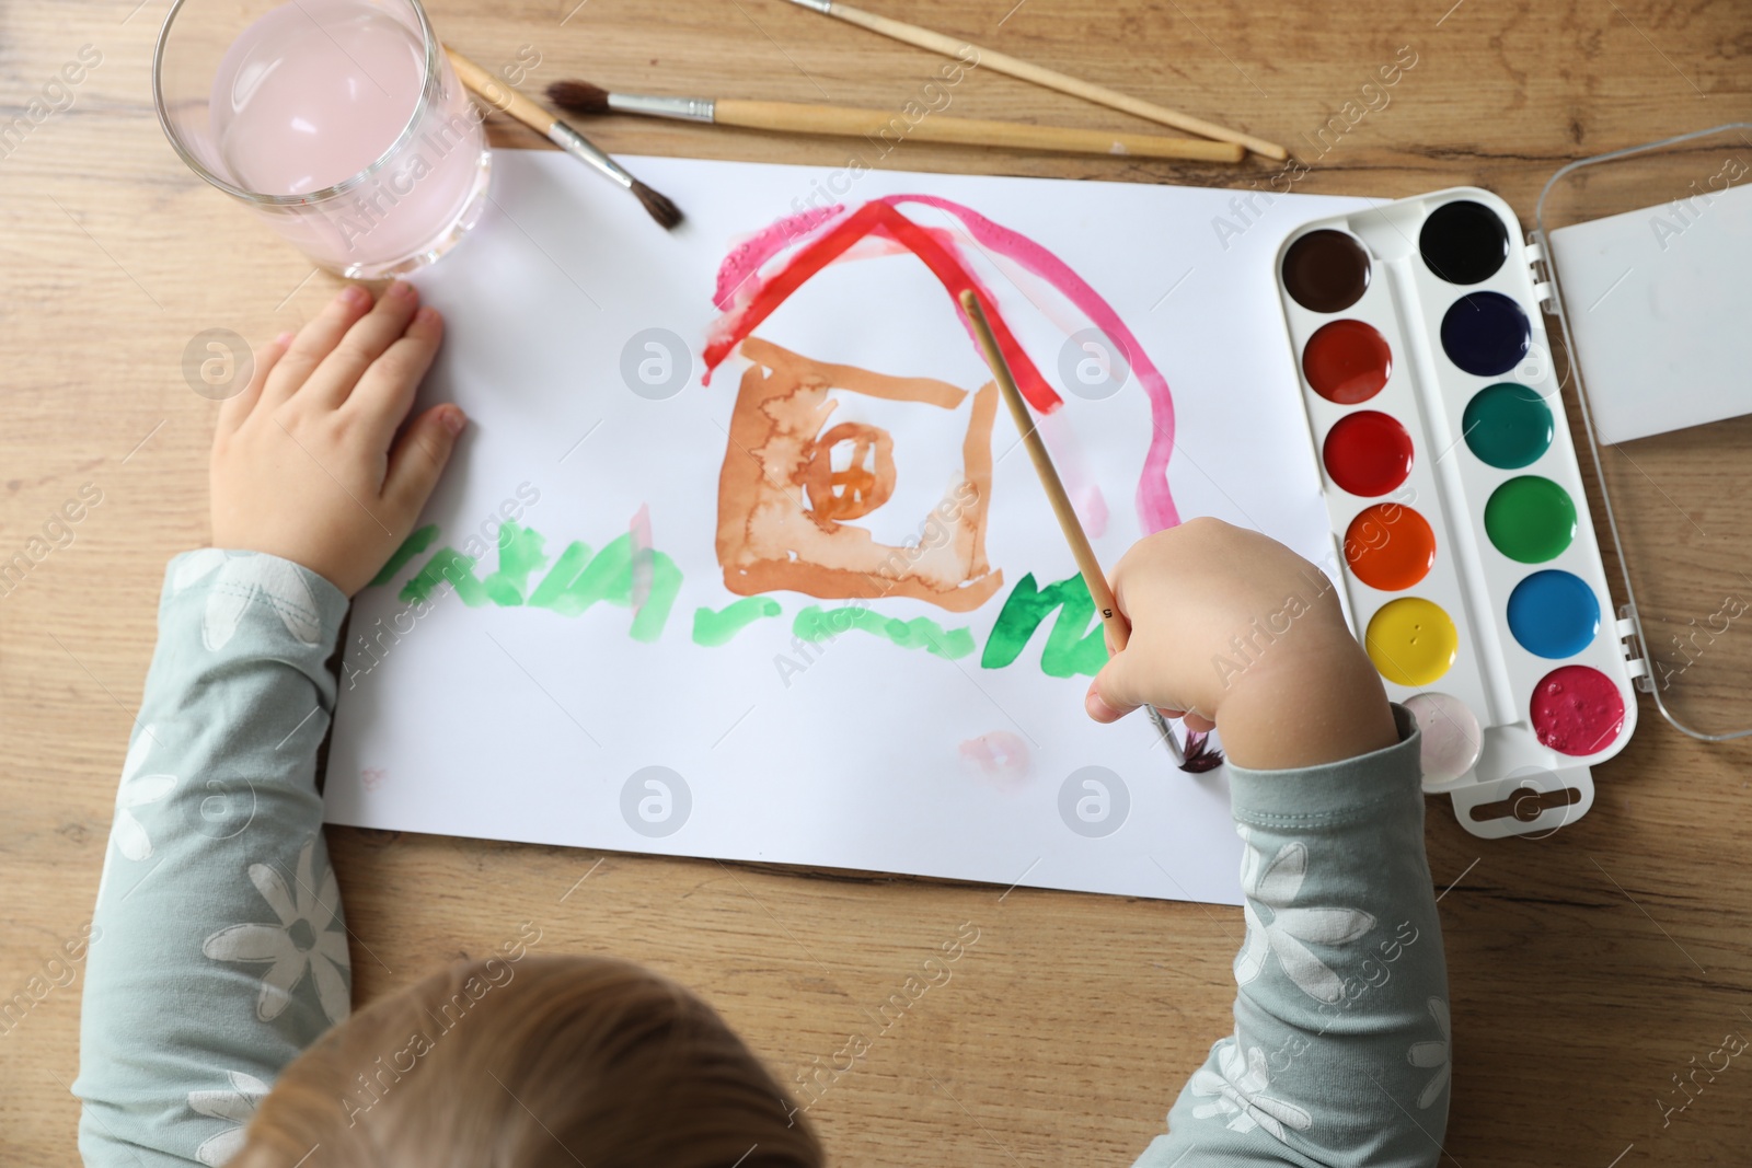
<path fill-rule="evenodd" d="M 1726 4 L 871 4 L 1284 142 L 1312 165 L 1302 191 L 1477 182 L 1522 221 L 1566 159 L 1752 114 L 1747 26 Z M 434 23 L 489 68 L 529 46 L 541 58 L 529 88 L 575 75 L 899 107 L 939 68 L 780 0 L 477 7 L 434 0 Z M 165 9 L 0 5 L 7 119 L 81 46 L 103 58 L 72 109 L 0 147 L 0 557 L 81 485 L 103 492 L 74 543 L 0 597 L 0 996 L 89 919 L 163 564 L 207 541 L 214 406 L 184 382 L 184 345 L 207 327 L 265 341 L 335 289 L 172 154 L 147 82 Z M 1403 46 L 1417 63 L 1391 103 L 1340 121 L 1335 137 L 1332 119 Z M 978 70 L 955 112 L 1149 130 Z M 534 144 L 515 126 L 494 133 Z M 596 137 L 655 154 L 846 154 L 825 138 L 625 119 Z M 890 163 L 1235 187 L 1275 170 L 916 142 Z M 1657 1098 L 1726 1031 L 1752 1033 L 1752 746 L 1703 746 L 1643 716 L 1598 769 L 1593 813 L 1551 839 L 1480 842 L 1445 800 L 1430 804 L 1454 989 L 1445 1149 L 1458 1164 L 1747 1161 L 1752 1068 L 1699 1077 L 1703 1093 L 1666 1128 Z M 543 951 L 618 953 L 697 986 L 781 1079 L 830 1059 L 867 1028 L 865 1009 L 971 921 L 979 940 L 953 981 L 815 1107 L 837 1163 L 1127 1164 L 1230 1028 L 1235 909 L 357 830 L 331 832 L 331 844 L 364 942 L 361 1000 L 531 921 Z M 0 1163 L 75 1159 L 77 1019 L 75 982 L 0 1040 Z"/>

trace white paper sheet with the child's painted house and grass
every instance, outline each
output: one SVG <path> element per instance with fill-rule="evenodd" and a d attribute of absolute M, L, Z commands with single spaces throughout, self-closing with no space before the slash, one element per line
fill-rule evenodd
<path fill-rule="evenodd" d="M 804 208 L 808 168 L 639 159 L 666 235 L 503 154 L 420 277 L 422 392 L 471 426 L 354 604 L 331 821 L 1233 902 L 1219 755 L 1083 716 L 1106 636 L 957 298 L 1107 567 L 1191 515 L 1319 559 L 1277 229 L 1212 243 L 1218 189 L 872 170 Z M 690 792 L 661 837 L 620 802 L 650 767 Z"/>

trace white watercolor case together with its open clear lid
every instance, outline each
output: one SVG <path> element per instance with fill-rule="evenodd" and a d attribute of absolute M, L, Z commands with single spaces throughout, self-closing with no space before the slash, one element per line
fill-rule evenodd
<path fill-rule="evenodd" d="M 1743 184 L 1743 186 L 1741 186 Z M 1636 727 L 1638 697 L 1680 732 L 1726 741 L 1752 734 L 1752 124 L 1729 124 L 1582 159 L 1545 186 L 1537 229 L 1524 238 L 1494 194 L 1458 187 L 1386 203 L 1361 215 L 1307 224 L 1347 231 L 1370 252 L 1377 278 L 1344 310 L 1310 312 L 1274 273 L 1296 364 L 1321 324 L 1356 315 L 1391 347 L 1395 368 L 1377 398 L 1402 419 L 1414 457 L 1403 503 L 1437 536 L 1426 595 L 1454 615 L 1459 651 L 1431 688 L 1479 714 L 1479 758 L 1445 790 L 1459 821 L 1484 837 L 1551 834 L 1594 800 L 1593 765 L 1619 753 Z M 1508 254 L 1487 280 L 1452 285 L 1419 259 L 1417 224 L 1440 205 L 1494 210 Z M 1528 685 L 1542 667 L 1507 627 L 1503 585 L 1529 564 L 1505 564 L 1482 525 L 1493 483 L 1521 471 L 1466 452 L 1465 405 L 1487 378 L 1458 371 L 1440 343 L 1445 306 L 1466 291 L 1498 291 L 1529 319 L 1528 359 L 1505 380 L 1538 392 L 1554 419 L 1551 448 L 1528 471 L 1570 492 L 1577 534 L 1552 560 L 1586 580 L 1600 630 L 1575 662 L 1608 676 L 1624 699 L 1610 742 L 1563 755 L 1531 734 Z M 1563 350 L 1544 317 L 1558 320 Z M 1358 580 L 1344 555 L 1351 520 L 1379 499 L 1337 487 L 1321 441 L 1347 410 L 1300 383 L 1309 441 L 1326 475 L 1346 613 L 1360 639 L 1398 595 Z M 1568 408 L 1566 408 L 1568 406 Z M 1573 413 L 1572 413 L 1573 410 Z M 1580 475 L 1568 419 L 1580 422 L 1594 475 Z M 1594 494 L 1598 490 L 1598 494 Z M 1444 550 L 1447 555 L 1444 555 Z M 1444 562 L 1445 560 L 1445 562 Z M 1617 597 L 1617 602 L 1614 602 Z M 1466 662 L 1466 653 L 1473 660 Z M 1552 664 L 1566 662 L 1545 662 Z M 1423 690 L 1388 683 L 1395 699 Z M 1635 776 L 1626 776 L 1635 777 Z"/>

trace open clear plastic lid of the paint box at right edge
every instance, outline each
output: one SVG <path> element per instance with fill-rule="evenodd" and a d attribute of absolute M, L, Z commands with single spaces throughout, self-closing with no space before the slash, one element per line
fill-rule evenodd
<path fill-rule="evenodd" d="M 1529 257 L 1572 355 L 1636 685 L 1692 737 L 1752 734 L 1752 123 L 1570 163 Z"/>

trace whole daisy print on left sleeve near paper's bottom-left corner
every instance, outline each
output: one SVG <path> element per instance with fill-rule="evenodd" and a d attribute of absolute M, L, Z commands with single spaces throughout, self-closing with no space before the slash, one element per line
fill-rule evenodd
<path fill-rule="evenodd" d="M 347 1017 L 350 1009 L 342 970 L 350 970 L 352 960 L 347 956 L 345 928 L 335 912 L 340 886 L 329 867 L 322 869 L 322 881 L 317 884 L 312 874 L 315 846 L 312 837 L 298 853 L 296 890 L 287 890 L 280 874 L 266 863 L 249 865 L 249 881 L 280 918 L 279 925 L 231 925 L 201 944 L 201 953 L 215 961 L 268 963 L 256 998 L 256 1017 L 265 1023 L 286 1012 L 291 993 L 307 970 L 331 1023 Z"/>

